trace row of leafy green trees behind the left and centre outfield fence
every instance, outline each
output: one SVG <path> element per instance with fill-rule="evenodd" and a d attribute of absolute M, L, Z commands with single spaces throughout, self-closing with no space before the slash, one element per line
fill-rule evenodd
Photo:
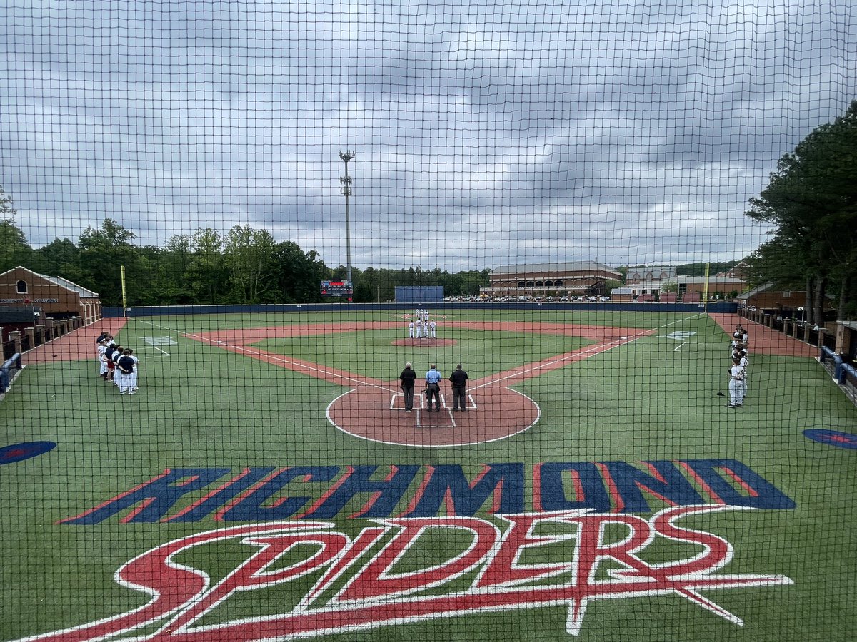
<path fill-rule="evenodd" d="M 0 190 L 0 272 L 22 265 L 46 276 L 62 276 L 98 292 L 105 306 L 122 305 L 120 266 L 125 266 L 129 306 L 215 303 L 331 303 L 321 281 L 343 281 L 345 266 L 329 268 L 315 250 L 276 241 L 265 229 L 236 225 L 225 234 L 210 228 L 173 235 L 163 247 L 138 246 L 135 235 L 111 218 L 89 227 L 75 243 L 55 239 L 33 248 L 15 225 L 15 211 Z M 479 294 L 489 270 L 351 269 L 354 301 L 395 300 L 402 285 L 442 285 L 446 295 Z"/>

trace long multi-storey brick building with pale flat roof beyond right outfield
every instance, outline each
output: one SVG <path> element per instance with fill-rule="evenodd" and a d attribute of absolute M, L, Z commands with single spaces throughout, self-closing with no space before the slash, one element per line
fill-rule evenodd
<path fill-rule="evenodd" d="M 622 275 L 596 261 L 500 265 L 491 270 L 488 296 L 548 296 L 603 294 L 607 281 L 620 281 Z"/>

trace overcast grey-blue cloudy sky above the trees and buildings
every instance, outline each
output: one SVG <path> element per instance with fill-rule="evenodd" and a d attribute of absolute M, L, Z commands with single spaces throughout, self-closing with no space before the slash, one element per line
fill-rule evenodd
<path fill-rule="evenodd" d="M 9 0 L 0 185 L 33 246 L 236 224 L 345 265 L 738 259 L 857 98 L 842 0 Z"/>

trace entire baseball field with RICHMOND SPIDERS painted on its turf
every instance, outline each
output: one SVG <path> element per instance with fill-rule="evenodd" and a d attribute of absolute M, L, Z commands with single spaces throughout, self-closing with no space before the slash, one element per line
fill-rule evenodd
<path fill-rule="evenodd" d="M 857 407 L 814 348 L 745 322 L 733 408 L 734 315 L 412 313 L 111 318 L 26 354 L 0 639 L 853 639 Z"/>

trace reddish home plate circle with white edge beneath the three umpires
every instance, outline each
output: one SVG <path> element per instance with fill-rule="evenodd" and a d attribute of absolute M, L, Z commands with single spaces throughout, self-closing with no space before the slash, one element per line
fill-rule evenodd
<path fill-rule="evenodd" d="M 333 400 L 327 419 L 339 430 L 369 441 L 404 446 L 463 446 L 511 437 L 530 428 L 539 407 L 530 397 L 502 386 L 468 390 L 466 412 L 452 411 L 452 391 L 440 395 L 440 412 L 429 412 L 426 396 L 414 392 L 414 409 L 393 389 L 361 386 Z"/>

